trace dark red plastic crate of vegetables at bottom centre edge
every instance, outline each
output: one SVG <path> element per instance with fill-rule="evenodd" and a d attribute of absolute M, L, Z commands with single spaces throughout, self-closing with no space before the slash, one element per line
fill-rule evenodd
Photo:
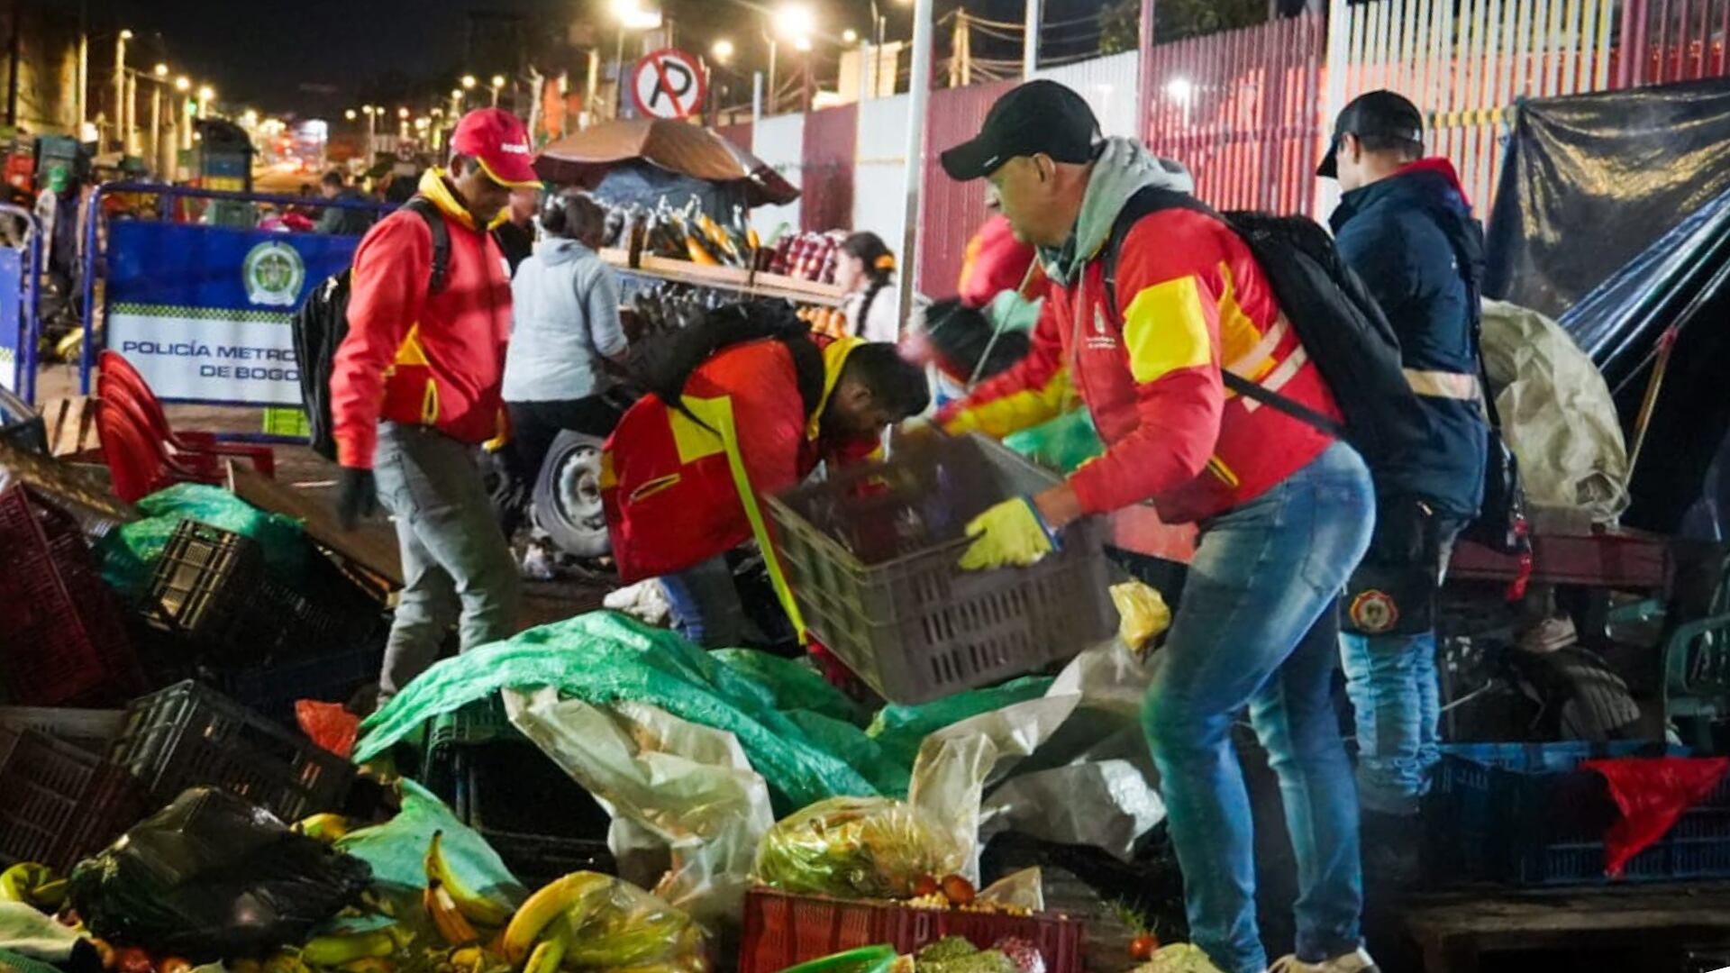
<path fill-rule="evenodd" d="M 990 949 L 1003 937 L 1024 938 L 1040 947 L 1047 973 L 1081 973 L 1086 925 L 1052 912 L 1003 916 L 913 909 L 896 902 L 753 888 L 746 893 L 739 973 L 778 973 L 875 944 L 889 944 L 907 954 L 943 937 L 964 937 L 979 949 Z"/>

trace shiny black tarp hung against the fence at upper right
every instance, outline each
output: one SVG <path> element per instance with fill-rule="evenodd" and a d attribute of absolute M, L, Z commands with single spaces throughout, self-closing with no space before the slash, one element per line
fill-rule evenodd
<path fill-rule="evenodd" d="M 1730 78 L 1522 100 L 1484 293 L 1557 317 L 1730 189 Z"/>

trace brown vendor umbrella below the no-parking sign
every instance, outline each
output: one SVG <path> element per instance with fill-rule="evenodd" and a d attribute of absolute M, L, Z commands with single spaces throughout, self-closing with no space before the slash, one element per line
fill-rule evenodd
<path fill-rule="evenodd" d="M 751 206 L 799 197 L 796 185 L 714 130 L 661 118 L 602 121 L 566 135 L 535 156 L 535 171 L 547 182 L 595 189 L 612 166 L 633 159 L 692 178 L 740 184 Z"/>

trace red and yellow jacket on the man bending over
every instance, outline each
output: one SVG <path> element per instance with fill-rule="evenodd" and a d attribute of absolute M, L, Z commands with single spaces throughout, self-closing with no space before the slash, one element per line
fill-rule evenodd
<path fill-rule="evenodd" d="M 862 341 L 815 341 L 823 395 L 810 419 L 798 364 L 777 339 L 734 345 L 697 365 L 683 402 L 701 424 L 656 396 L 625 412 L 600 454 L 600 500 L 625 582 L 682 571 L 756 537 L 784 589 L 758 497 L 799 483 L 825 459 L 855 462 L 877 448 L 875 438 L 834 440 L 818 429 L 841 365 Z"/>

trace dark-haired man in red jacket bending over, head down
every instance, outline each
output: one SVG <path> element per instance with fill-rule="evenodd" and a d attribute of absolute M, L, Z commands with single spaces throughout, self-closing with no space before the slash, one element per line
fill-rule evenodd
<path fill-rule="evenodd" d="M 683 635 L 727 648 L 746 628 L 727 552 L 746 540 L 758 540 L 798 623 L 761 497 L 794 486 L 818 462 L 870 455 L 884 428 L 922 412 L 931 393 L 894 345 L 815 338 L 768 301 L 718 308 L 692 327 L 780 334 L 713 341 L 699 360 L 650 377 L 661 391 L 631 405 L 607 438 L 600 499 L 619 577 L 659 577 Z M 670 403 L 663 395 L 673 390 Z"/>

